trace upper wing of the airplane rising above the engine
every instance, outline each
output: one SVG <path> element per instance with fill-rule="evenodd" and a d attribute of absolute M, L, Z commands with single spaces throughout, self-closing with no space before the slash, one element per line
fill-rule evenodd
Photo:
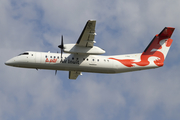
<path fill-rule="evenodd" d="M 76 45 L 82 47 L 93 47 L 95 41 L 94 37 L 95 33 L 96 20 L 88 20 Z"/>

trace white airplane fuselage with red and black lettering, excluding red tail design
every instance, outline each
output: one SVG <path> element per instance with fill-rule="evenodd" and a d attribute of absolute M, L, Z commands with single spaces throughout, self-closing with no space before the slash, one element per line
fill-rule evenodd
<path fill-rule="evenodd" d="M 32 52 L 21 54 L 5 64 L 14 67 L 35 68 L 35 69 L 50 69 L 64 71 L 80 71 L 80 72 L 95 72 L 95 73 L 121 73 L 128 71 L 136 71 L 142 69 L 157 68 L 153 62 L 147 66 L 138 66 L 133 64 L 132 67 L 127 67 L 122 63 L 109 59 L 115 57 L 118 59 L 135 59 L 140 61 L 141 54 L 127 54 L 117 56 L 102 56 L 102 55 L 87 55 L 87 54 L 65 54 L 62 58 L 60 53 L 50 52 Z"/>

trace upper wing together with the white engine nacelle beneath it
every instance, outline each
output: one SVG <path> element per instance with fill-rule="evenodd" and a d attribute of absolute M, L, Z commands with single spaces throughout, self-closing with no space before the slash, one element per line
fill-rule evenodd
<path fill-rule="evenodd" d="M 105 51 L 94 46 L 96 20 L 88 20 L 76 44 L 64 44 L 63 51 L 72 54 L 100 55 Z"/>

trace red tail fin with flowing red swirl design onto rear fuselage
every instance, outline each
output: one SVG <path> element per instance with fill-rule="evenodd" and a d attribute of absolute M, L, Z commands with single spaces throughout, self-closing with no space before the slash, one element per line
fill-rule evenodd
<path fill-rule="evenodd" d="M 169 51 L 169 48 L 172 44 L 172 39 L 170 39 L 174 28 L 165 27 L 160 34 L 156 35 L 151 43 L 147 46 L 144 52 L 140 56 L 140 61 L 137 62 L 135 59 L 116 59 L 116 58 L 109 58 L 113 60 L 117 60 L 123 65 L 127 67 L 133 67 L 133 64 L 138 66 L 147 66 L 150 64 L 150 57 L 155 57 L 153 60 L 154 64 L 157 66 L 163 66 L 165 57 Z"/>

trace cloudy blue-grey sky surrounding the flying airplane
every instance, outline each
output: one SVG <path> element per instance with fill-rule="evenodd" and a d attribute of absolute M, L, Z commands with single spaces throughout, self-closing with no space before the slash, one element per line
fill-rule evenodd
<path fill-rule="evenodd" d="M 0 119 L 180 119 L 180 1 L 1 0 Z M 175 27 L 162 68 L 122 74 L 22 69 L 4 62 L 26 50 L 60 51 L 60 36 L 75 43 L 95 19 L 105 55 L 142 52 L 164 27 Z"/>

